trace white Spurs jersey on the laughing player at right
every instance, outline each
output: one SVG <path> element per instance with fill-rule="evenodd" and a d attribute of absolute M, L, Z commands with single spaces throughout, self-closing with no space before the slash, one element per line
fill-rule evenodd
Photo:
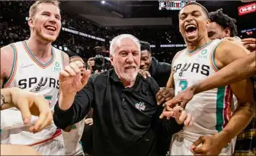
<path fill-rule="evenodd" d="M 221 40 L 213 40 L 194 51 L 179 51 L 173 59 L 175 95 L 189 86 L 200 83 L 218 71 L 214 53 Z M 221 80 L 220 80 L 221 81 Z M 185 110 L 194 117 L 194 125 L 186 126 L 179 134 L 194 142 L 199 136 L 219 133 L 231 117 L 232 90 L 222 86 L 194 95 Z"/>

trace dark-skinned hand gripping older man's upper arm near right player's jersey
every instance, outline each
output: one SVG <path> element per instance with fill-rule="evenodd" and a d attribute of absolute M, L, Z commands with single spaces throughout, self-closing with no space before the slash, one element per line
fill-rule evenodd
<path fill-rule="evenodd" d="M 158 105 L 161 105 L 164 101 L 171 100 L 174 97 L 174 89 L 162 87 L 155 95 L 156 101 Z"/>

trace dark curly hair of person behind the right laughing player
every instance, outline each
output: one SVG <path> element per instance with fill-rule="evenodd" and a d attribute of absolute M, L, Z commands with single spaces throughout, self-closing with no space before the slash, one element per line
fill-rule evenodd
<path fill-rule="evenodd" d="M 210 12 L 209 18 L 211 22 L 216 22 L 223 29 L 226 29 L 227 27 L 229 27 L 231 37 L 238 35 L 237 27 L 235 24 L 236 20 L 232 17 L 229 17 L 227 14 L 223 14 L 222 8 L 220 8 L 219 10 Z"/>

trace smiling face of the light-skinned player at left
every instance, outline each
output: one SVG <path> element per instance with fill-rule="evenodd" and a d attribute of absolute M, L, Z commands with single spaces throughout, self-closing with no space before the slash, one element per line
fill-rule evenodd
<path fill-rule="evenodd" d="M 40 3 L 35 9 L 28 21 L 31 35 L 46 42 L 54 42 L 61 28 L 59 7 L 51 3 Z"/>

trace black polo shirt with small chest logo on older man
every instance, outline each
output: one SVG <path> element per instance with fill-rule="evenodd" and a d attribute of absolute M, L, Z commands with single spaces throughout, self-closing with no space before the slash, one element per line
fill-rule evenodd
<path fill-rule="evenodd" d="M 155 80 L 144 79 L 140 74 L 131 88 L 124 88 L 114 69 L 94 74 L 77 92 L 69 110 L 62 111 L 56 105 L 53 120 L 64 129 L 82 120 L 92 107 L 95 155 L 152 155 L 154 126 L 163 125 L 168 133 L 176 133 L 182 127 L 175 120 L 158 122 L 162 110 L 155 100 L 158 89 Z"/>

